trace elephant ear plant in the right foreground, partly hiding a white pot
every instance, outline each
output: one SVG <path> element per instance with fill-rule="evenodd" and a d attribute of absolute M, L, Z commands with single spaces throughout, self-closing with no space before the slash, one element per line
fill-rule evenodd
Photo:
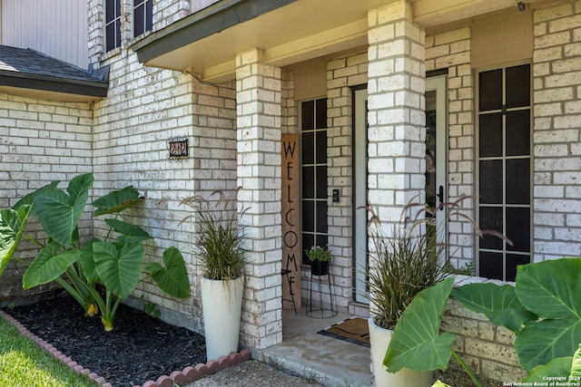
<path fill-rule="evenodd" d="M 448 278 L 421 292 L 402 314 L 384 363 L 393 372 L 402 367 L 446 370 L 454 354 L 473 382 L 481 386 L 450 348 L 454 334 L 439 333 L 451 295 L 515 333 L 518 361 L 529 372 L 525 382 L 547 382 L 547 377 L 566 375 L 570 375 L 567 381 L 581 382 L 580 278 L 581 258 L 518 266 L 514 286 L 487 283 L 453 288 L 454 280 Z"/>

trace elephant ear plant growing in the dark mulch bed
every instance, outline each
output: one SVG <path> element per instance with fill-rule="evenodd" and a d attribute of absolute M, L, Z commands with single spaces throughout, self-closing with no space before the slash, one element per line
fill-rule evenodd
<path fill-rule="evenodd" d="M 22 198 L 14 208 L 0 210 L 0 276 L 12 258 L 18 259 L 28 265 L 23 276 L 25 289 L 54 281 L 83 306 L 86 314 L 100 312 L 105 331 L 111 331 L 118 306 L 146 278 L 143 272 L 152 276 L 163 292 L 175 297 L 188 297 L 190 285 L 182 254 L 175 247 L 163 252 L 164 266 L 157 262 L 144 266 L 144 242 L 152 237 L 142 227 L 118 219 L 124 209 L 141 200 L 131 186 L 94 200 L 95 218 L 112 217 L 104 219 L 108 230 L 103 239 L 93 237 L 81 246 L 78 223 L 93 182 L 91 173 L 80 175 L 64 191 L 57 189 L 59 182 L 54 181 Z M 42 225 L 45 242 L 25 234 L 26 222 L 32 216 Z M 32 262 L 15 257 L 23 237 L 40 248 Z"/>

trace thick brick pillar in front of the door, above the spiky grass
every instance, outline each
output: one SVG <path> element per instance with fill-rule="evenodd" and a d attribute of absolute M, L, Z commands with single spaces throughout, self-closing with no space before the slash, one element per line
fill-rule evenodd
<path fill-rule="evenodd" d="M 384 224 L 426 196 L 425 33 L 411 15 L 405 0 L 368 15 L 369 202 Z"/>

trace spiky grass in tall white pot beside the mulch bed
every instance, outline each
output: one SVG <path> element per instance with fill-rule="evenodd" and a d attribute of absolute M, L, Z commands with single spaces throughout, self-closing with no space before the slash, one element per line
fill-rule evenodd
<path fill-rule="evenodd" d="M 238 351 L 245 263 L 236 209 L 222 192 L 215 193 L 221 198 L 214 204 L 198 196 L 182 200 L 182 204 L 195 209 L 195 214 L 185 219 L 194 218 L 198 224 L 196 255 L 202 266 L 200 288 L 208 361 Z"/>

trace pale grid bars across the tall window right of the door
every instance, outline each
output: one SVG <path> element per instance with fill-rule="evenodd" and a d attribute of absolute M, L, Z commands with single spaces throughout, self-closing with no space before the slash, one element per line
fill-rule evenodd
<path fill-rule="evenodd" d="M 502 170 L 499 171 L 499 173 L 503 174 L 503 179 L 502 179 L 502 199 L 501 199 L 501 203 L 494 203 L 494 204 L 484 204 L 484 203 L 478 203 L 478 206 L 480 208 L 485 208 L 485 207 L 490 207 L 490 208 L 494 208 L 494 207 L 502 207 L 503 210 L 503 218 L 507 219 L 507 208 L 528 208 L 528 222 L 529 225 L 527 225 L 529 227 L 529 230 L 532 229 L 532 227 L 530 227 L 530 222 L 532 219 L 532 214 L 531 214 L 531 206 L 530 206 L 530 196 L 531 196 L 531 192 L 530 189 L 528 190 L 529 193 L 529 198 L 528 198 L 528 204 L 517 204 L 517 203 L 507 203 L 507 179 L 505 177 L 506 171 L 507 171 L 507 160 L 529 160 L 529 166 L 530 166 L 530 160 L 531 160 L 531 156 L 530 156 L 530 147 L 529 147 L 529 151 L 527 155 L 522 155 L 522 156 L 507 156 L 507 113 L 511 112 L 511 111 L 531 111 L 531 107 L 530 104 L 528 106 L 518 106 L 516 108 L 506 108 L 506 98 L 507 98 L 507 90 L 506 90 L 506 71 L 507 69 L 503 69 L 503 82 L 502 82 L 502 109 L 494 109 L 494 110 L 487 110 L 487 111 L 478 111 L 478 116 L 483 116 L 486 114 L 494 114 L 494 113 L 498 113 L 501 112 L 502 114 L 502 155 L 497 156 L 497 157 L 478 157 L 478 165 L 479 162 L 482 160 L 501 160 L 502 161 Z M 479 104 L 481 105 L 481 104 Z M 530 123 L 529 123 L 530 124 Z M 530 127 L 529 127 L 530 128 Z M 529 129 L 529 136 L 530 136 L 530 129 Z M 528 139 L 530 140 L 530 139 Z M 528 170 L 529 175 L 531 174 L 531 168 L 529 167 Z M 531 178 L 529 177 L 529 181 L 532 181 Z M 482 187 L 478 187 L 479 190 L 483 189 Z M 478 219 L 479 222 L 479 219 Z M 505 220 L 503 222 L 503 235 L 507 235 L 507 233 L 509 233 L 510 231 L 507 230 L 507 221 Z M 532 237 L 529 237 L 529 245 L 532 243 Z M 507 267 L 509 265 L 509 262 L 507 261 L 507 256 L 510 257 L 515 257 L 515 256 L 523 256 L 523 257 L 528 257 L 528 260 L 530 261 L 530 256 L 531 256 L 531 247 L 528 247 L 528 251 L 518 251 L 518 250 L 513 250 L 511 249 L 511 247 L 507 246 L 507 243 L 505 241 L 503 241 L 502 243 L 502 248 L 498 248 L 498 249 L 488 249 L 488 248 L 481 248 L 478 247 L 478 251 L 482 252 L 482 253 L 497 253 L 498 255 L 502 256 L 502 277 L 498 277 L 497 279 L 504 279 L 504 280 L 513 280 L 514 278 L 512 276 L 514 276 L 514 267 Z M 478 254 L 478 256 L 480 256 L 480 254 Z M 507 277 L 507 272 L 509 272 L 509 276 Z M 494 276 L 496 277 L 496 276 Z"/>

